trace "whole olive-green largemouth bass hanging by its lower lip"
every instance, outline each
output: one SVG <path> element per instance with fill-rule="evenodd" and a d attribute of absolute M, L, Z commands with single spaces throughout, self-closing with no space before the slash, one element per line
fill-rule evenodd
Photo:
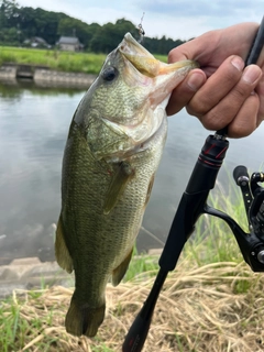
<path fill-rule="evenodd" d="M 194 67 L 161 63 L 128 33 L 77 107 L 55 243 L 58 264 L 75 271 L 65 321 L 74 336 L 97 333 L 107 283 L 127 272 L 166 140 L 166 103 Z"/>

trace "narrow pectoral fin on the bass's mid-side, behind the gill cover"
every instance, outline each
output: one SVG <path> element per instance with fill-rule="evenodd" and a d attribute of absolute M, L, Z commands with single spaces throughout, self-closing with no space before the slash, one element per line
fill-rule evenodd
<path fill-rule="evenodd" d="M 125 185 L 128 184 L 129 179 L 133 177 L 133 175 L 134 169 L 129 163 L 120 163 L 107 193 L 106 201 L 103 205 L 103 213 L 107 215 L 113 209 L 113 207 L 122 196 Z"/>

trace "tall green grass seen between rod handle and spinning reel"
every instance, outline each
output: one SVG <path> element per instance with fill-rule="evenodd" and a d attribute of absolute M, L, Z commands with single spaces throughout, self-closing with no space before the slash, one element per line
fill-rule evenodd
<path fill-rule="evenodd" d="M 249 232 L 240 188 L 234 185 L 233 179 L 230 179 L 230 188 L 224 190 L 217 184 L 210 193 L 208 205 L 229 215 L 245 232 Z M 208 215 L 202 215 L 197 221 L 196 230 L 187 242 L 184 253 L 200 266 L 208 263 L 242 261 L 242 254 L 231 229 L 223 220 Z"/>

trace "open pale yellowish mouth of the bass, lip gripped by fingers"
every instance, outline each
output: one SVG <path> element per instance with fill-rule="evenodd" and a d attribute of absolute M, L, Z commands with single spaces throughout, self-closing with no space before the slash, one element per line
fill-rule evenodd
<path fill-rule="evenodd" d="M 167 75 L 180 68 L 199 67 L 197 62 L 186 59 L 174 64 L 165 64 L 156 59 L 144 46 L 127 33 L 118 47 L 119 52 L 144 76 L 154 78 Z"/>

